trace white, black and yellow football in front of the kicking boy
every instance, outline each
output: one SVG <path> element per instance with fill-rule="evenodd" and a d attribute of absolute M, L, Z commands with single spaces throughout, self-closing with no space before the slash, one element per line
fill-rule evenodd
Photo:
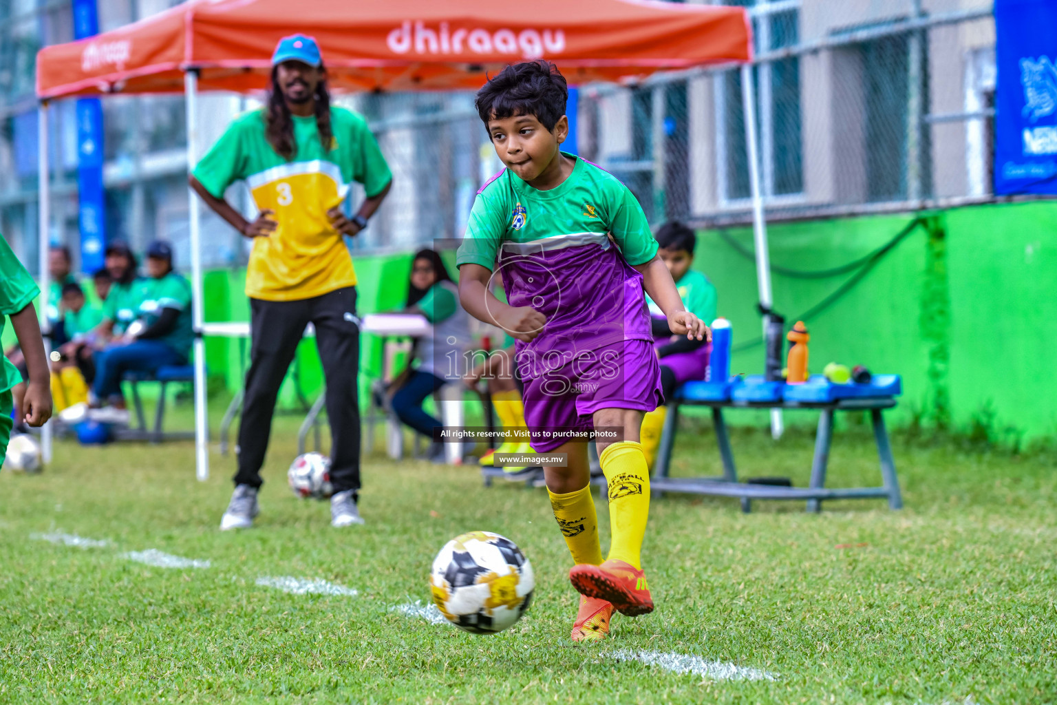
<path fill-rule="evenodd" d="M 469 532 L 437 554 L 429 586 L 448 621 L 472 634 L 495 634 L 528 610 L 536 577 L 514 541 L 492 532 Z"/>

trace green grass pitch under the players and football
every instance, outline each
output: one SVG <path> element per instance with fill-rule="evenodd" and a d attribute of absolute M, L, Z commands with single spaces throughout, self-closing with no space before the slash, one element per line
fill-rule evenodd
<path fill-rule="evenodd" d="M 221 534 L 233 461 L 194 481 L 189 443 L 58 444 L 39 476 L 0 474 L 2 703 L 1052 703 L 1057 702 L 1057 475 L 1049 456 L 896 437 L 906 508 L 668 495 L 646 568 L 657 610 L 574 645 L 569 556 L 543 490 L 482 487 L 476 468 L 366 459 L 367 525 L 332 530 L 285 486 L 293 419 L 273 435 L 258 526 Z M 746 476 L 806 482 L 812 438 L 734 438 Z M 707 431 L 675 474 L 715 474 Z M 877 482 L 869 438 L 838 434 L 831 484 Z M 605 503 L 599 503 L 604 527 Z M 504 534 L 536 570 L 508 632 L 474 636 L 394 607 L 428 602 L 434 553 L 467 530 Z M 31 538 L 64 533 L 79 548 Z M 604 533 L 604 541 L 605 533 Z M 149 549 L 208 568 L 125 557 Z M 289 594 L 262 576 L 355 596 Z M 723 680 L 620 661 L 678 653 L 761 669 Z"/>

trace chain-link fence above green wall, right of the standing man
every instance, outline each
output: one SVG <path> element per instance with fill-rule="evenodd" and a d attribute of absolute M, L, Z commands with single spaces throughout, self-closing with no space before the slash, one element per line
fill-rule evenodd
<path fill-rule="evenodd" d="M 767 217 L 824 218 L 991 198 L 995 31 L 967 0 L 746 0 Z M 339 101 L 370 120 L 393 191 L 356 247 L 458 238 L 501 168 L 470 93 Z M 651 223 L 748 222 L 737 67 L 579 88 L 579 153 L 616 174 Z"/>

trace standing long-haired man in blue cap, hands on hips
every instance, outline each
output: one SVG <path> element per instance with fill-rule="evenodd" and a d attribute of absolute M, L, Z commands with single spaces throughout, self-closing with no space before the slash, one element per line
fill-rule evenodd
<path fill-rule="evenodd" d="M 257 516 L 276 395 L 310 322 L 327 375 L 331 524 L 348 526 L 363 520 L 356 505 L 359 319 L 345 238 L 367 226 L 392 174 L 364 117 L 331 106 L 315 39 L 283 38 L 272 67 L 265 107 L 237 117 L 190 179 L 206 205 L 254 242 L 246 267 L 252 340 L 239 469 L 220 527 L 248 528 Z M 224 200 L 236 181 L 253 193 L 256 220 L 247 221 Z M 364 185 L 367 199 L 349 218 L 341 206 L 354 181 Z"/>

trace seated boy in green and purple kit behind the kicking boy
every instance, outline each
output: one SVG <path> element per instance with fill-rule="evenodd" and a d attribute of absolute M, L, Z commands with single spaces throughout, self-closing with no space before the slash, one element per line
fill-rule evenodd
<path fill-rule="evenodd" d="M 675 221 L 662 225 L 655 235 L 657 255 L 668 265 L 683 307 L 698 318 L 711 324 L 716 318 L 716 286 L 708 277 L 690 268 L 693 264 L 693 230 Z M 685 335 L 672 335 L 668 321 L 657 305 L 646 297 L 653 324 L 653 349 L 661 358 L 661 386 L 665 400 L 670 400 L 684 382 L 704 379 L 708 370 L 711 345 L 704 340 L 688 340 Z M 653 467 L 667 407 L 661 406 L 643 418 L 642 444 L 646 462 Z"/>

